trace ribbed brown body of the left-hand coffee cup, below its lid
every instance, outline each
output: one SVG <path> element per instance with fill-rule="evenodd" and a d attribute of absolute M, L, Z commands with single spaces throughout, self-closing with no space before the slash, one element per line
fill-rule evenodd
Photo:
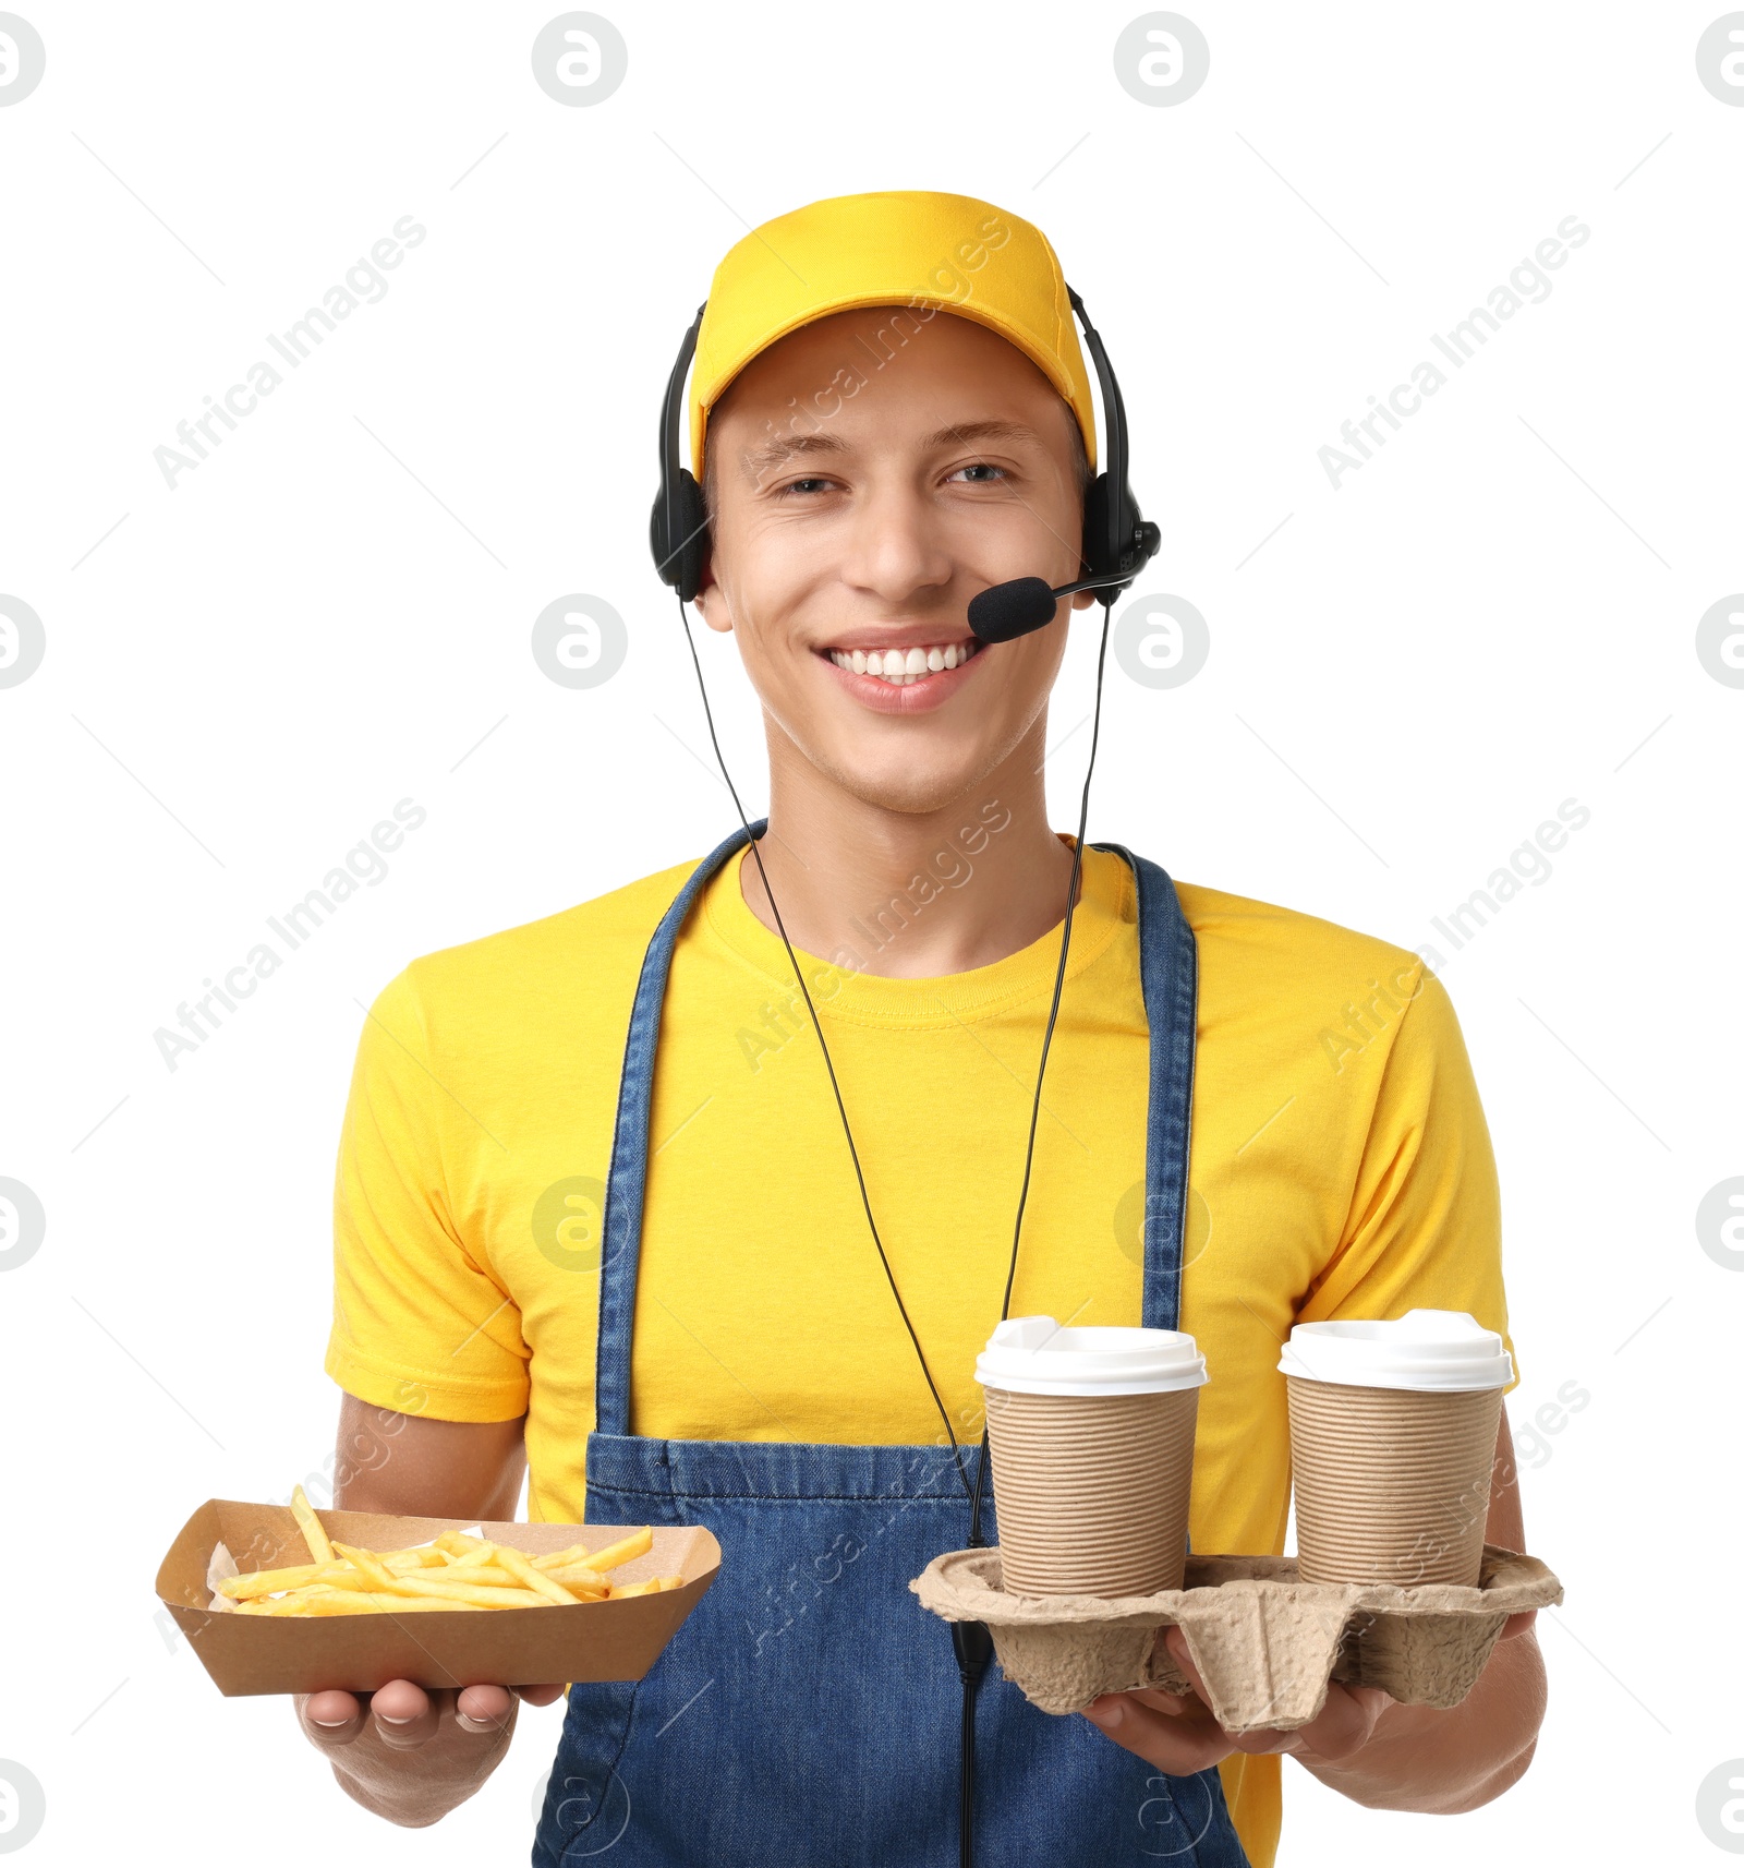
<path fill-rule="evenodd" d="M 1199 1390 L 1033 1395 L 988 1388 L 999 1565 L 1014 1595 L 1178 1590 Z"/>

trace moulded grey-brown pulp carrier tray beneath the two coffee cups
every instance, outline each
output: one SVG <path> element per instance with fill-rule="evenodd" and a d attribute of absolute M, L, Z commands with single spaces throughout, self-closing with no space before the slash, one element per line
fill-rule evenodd
<path fill-rule="evenodd" d="M 1163 1642 L 1178 1625 L 1229 1732 L 1305 1726 L 1333 1679 L 1458 1705 L 1507 1618 L 1563 1599 L 1539 1558 L 1488 1543 L 1475 1588 L 1303 1582 L 1294 1556 L 1188 1556 L 1186 1586 L 1156 1595 L 1008 1595 L 997 1549 L 935 1556 L 909 1588 L 945 1621 L 986 1621 L 999 1670 L 1044 1713 L 1139 1687 L 1186 1692 Z"/>

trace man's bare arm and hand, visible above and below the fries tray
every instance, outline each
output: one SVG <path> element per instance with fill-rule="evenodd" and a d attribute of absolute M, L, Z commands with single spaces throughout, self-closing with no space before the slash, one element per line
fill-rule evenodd
<path fill-rule="evenodd" d="M 521 1420 L 420 1420 L 345 1395 L 334 1504 L 405 1517 L 515 1515 L 527 1470 Z M 394 1679 L 364 1696 L 297 1698 L 310 1741 L 366 1810 L 407 1827 L 439 1821 L 478 1791 L 508 1750 L 515 1696 L 549 1705 L 562 1685 L 428 1692 Z"/>

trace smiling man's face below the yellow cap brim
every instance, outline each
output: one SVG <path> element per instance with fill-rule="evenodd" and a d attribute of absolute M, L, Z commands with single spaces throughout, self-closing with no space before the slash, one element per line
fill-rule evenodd
<path fill-rule="evenodd" d="M 1072 435 L 1068 405 L 1005 338 L 891 306 L 782 338 L 711 413 L 696 607 L 738 635 L 781 734 L 855 798 L 945 809 L 1040 721 L 1066 603 L 988 646 L 965 613 L 1008 577 L 1077 575 Z"/>

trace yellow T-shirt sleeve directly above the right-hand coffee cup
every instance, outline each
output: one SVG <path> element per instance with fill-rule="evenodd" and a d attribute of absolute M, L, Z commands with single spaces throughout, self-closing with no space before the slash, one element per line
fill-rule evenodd
<path fill-rule="evenodd" d="M 1395 1027 L 1339 1250 L 1298 1321 L 1408 1309 L 1470 1311 L 1512 1352 L 1496 1153 L 1453 1001 L 1427 968 Z"/>

